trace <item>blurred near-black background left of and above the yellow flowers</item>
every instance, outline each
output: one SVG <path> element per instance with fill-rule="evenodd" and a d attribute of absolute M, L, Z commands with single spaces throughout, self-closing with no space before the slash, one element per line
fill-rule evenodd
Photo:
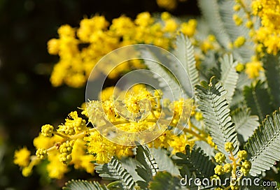
<path fill-rule="evenodd" d="M 13 152 L 26 145 L 43 124 L 57 125 L 84 101 L 85 89 L 52 87 L 52 66 L 58 57 L 47 52 L 46 43 L 57 37 L 62 24 L 78 27 L 83 17 L 101 14 L 107 20 L 120 15 L 165 11 L 155 1 L 131 0 L 0 0 L 0 145 L 6 147 L 1 159 L 0 189 L 57 189 L 65 180 L 90 177 L 74 173 L 64 180 L 49 180 L 38 175 L 22 177 L 13 165 Z M 179 3 L 174 15 L 199 15 L 196 1 Z M 3 150 L 2 150 L 3 153 Z M 56 184 L 55 184 L 56 183 Z"/>

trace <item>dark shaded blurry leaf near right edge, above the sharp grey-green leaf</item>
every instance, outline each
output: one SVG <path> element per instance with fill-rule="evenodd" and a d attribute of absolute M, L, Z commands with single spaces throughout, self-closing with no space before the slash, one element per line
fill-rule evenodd
<path fill-rule="evenodd" d="M 244 87 L 244 97 L 247 106 L 251 108 L 253 115 L 258 115 L 263 120 L 265 115 L 273 112 L 270 96 L 264 82 L 260 80 L 250 87 Z"/>

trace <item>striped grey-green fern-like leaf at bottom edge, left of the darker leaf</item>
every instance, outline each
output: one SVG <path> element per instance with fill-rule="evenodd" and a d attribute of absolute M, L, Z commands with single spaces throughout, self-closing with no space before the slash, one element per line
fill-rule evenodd
<path fill-rule="evenodd" d="M 95 170 L 104 180 L 115 180 L 120 182 L 118 185 L 120 185 L 122 189 L 134 188 L 135 182 L 132 175 L 123 168 L 122 164 L 115 157 L 113 157 L 109 163 L 96 166 Z"/>

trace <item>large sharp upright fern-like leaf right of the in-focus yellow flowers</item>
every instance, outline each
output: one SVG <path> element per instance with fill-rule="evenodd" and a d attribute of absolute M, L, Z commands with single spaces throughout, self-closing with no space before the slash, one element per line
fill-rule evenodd
<path fill-rule="evenodd" d="M 236 154 L 239 149 L 235 124 L 230 117 L 230 108 L 226 100 L 226 92 L 221 82 L 211 78 L 210 83 L 203 81 L 196 86 L 196 96 L 200 110 L 202 110 L 205 126 L 217 145 L 219 151 L 225 152 L 225 142 L 233 142 Z"/>

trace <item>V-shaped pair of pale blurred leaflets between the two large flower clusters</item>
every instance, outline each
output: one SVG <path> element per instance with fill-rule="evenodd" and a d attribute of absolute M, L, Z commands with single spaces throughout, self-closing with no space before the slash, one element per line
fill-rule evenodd
<path fill-rule="evenodd" d="M 199 82 L 193 45 L 183 34 L 177 36 L 176 45 L 174 50 L 176 57 L 169 56 L 168 59 L 165 56 L 167 52 L 163 50 L 154 48 L 142 50 L 144 64 L 156 73 L 153 77 L 159 80 L 160 87 L 171 88 L 175 96 L 182 96 L 184 92 L 186 96 L 193 98 L 193 86 Z M 165 82 L 162 82 L 162 78 Z"/>

